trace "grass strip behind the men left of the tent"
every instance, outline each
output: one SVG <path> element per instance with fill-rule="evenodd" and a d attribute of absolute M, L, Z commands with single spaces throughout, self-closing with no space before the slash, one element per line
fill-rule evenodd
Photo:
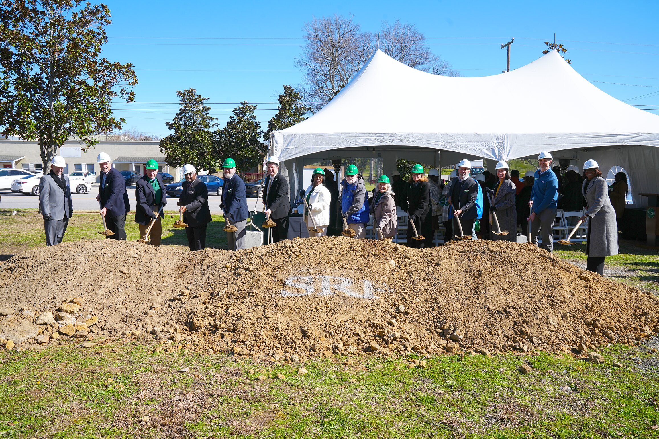
<path fill-rule="evenodd" d="M 11 255 L 34 247 L 45 246 L 45 232 L 43 231 L 43 219 L 38 215 L 36 209 L 22 209 L 11 215 L 13 209 L 0 210 L 0 261 L 9 259 Z M 206 232 L 206 247 L 227 248 L 227 234 L 222 230 L 224 217 L 212 215 L 213 222 L 208 224 Z M 134 213 L 129 213 L 126 219 L 126 236 L 129 241 L 140 239 L 138 224 L 135 222 Z M 179 219 L 178 215 L 165 213 L 163 219 L 163 245 L 188 246 L 185 230 L 173 228 L 172 224 Z M 103 229 L 100 216 L 94 213 L 75 213 L 69 220 L 64 242 L 76 242 L 82 239 L 104 240 L 104 236 L 98 234 Z"/>

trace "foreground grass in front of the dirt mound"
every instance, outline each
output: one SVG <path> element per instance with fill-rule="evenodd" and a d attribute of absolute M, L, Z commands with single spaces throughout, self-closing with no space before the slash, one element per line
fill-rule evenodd
<path fill-rule="evenodd" d="M 659 359 L 647 348 L 607 349 L 603 365 L 547 353 L 445 355 L 427 369 L 333 357 L 299 376 L 299 365 L 157 346 L 1 353 L 0 436 L 641 438 L 659 423 Z M 524 362 L 532 373 L 517 371 Z"/>

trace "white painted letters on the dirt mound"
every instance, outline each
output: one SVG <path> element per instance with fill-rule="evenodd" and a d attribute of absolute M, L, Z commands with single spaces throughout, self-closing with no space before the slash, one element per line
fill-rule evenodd
<path fill-rule="evenodd" d="M 375 292 L 386 292 L 376 288 L 370 280 L 355 281 L 337 276 L 293 276 L 285 281 L 286 287 L 281 290 L 281 297 L 291 296 L 335 296 L 345 294 L 358 299 L 378 299 Z"/>

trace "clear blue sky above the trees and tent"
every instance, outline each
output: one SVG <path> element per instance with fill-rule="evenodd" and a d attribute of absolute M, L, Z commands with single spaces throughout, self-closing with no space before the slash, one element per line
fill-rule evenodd
<path fill-rule="evenodd" d="M 659 109 L 659 1 L 106 1 L 113 24 L 103 56 L 132 63 L 136 103 L 114 105 L 126 128 L 164 137 L 177 90 L 195 88 L 213 109 L 258 104 L 262 127 L 283 84 L 295 86 L 302 26 L 314 16 L 353 15 L 362 30 L 409 22 L 464 76 L 505 69 L 501 43 L 515 37 L 511 69 L 540 57 L 544 41 L 565 44 L 573 68 L 617 99 Z M 616 83 L 616 84 L 610 84 Z M 625 85 L 622 85 L 625 84 Z M 270 103 L 270 104 L 268 104 Z M 645 107 L 656 105 L 657 107 Z M 120 109 L 172 109 L 121 111 Z M 272 110 L 265 110 L 272 109 Z M 659 114 L 659 111 L 652 111 Z M 230 111 L 212 111 L 220 126 Z"/>

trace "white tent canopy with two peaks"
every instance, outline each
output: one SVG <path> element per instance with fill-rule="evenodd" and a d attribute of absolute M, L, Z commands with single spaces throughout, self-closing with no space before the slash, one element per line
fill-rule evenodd
<path fill-rule="evenodd" d="M 552 151 L 577 164 L 599 159 L 605 174 L 622 166 L 638 194 L 659 192 L 658 147 L 659 116 L 599 90 L 555 51 L 481 78 L 428 74 L 376 51 L 316 115 L 273 132 L 270 153 L 287 161 L 347 157 L 351 149 L 395 151 L 398 158 L 441 151 L 442 163 L 449 164 L 462 157 L 500 160 Z M 643 202 L 639 198 L 635 203 Z"/>

